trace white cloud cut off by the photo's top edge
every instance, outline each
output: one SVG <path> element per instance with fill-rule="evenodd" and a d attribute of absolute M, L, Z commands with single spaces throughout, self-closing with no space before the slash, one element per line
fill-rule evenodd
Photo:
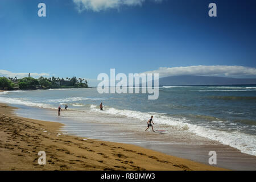
<path fill-rule="evenodd" d="M 107 9 L 119 9 L 121 6 L 142 6 L 146 0 L 73 0 L 79 12 L 84 10 L 102 11 Z M 161 2 L 162 0 L 151 0 Z"/>

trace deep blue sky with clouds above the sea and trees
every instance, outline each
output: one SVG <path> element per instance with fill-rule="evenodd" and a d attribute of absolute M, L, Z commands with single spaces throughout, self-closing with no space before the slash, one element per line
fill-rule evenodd
<path fill-rule="evenodd" d="M 46 4 L 46 17 L 38 4 Z M 209 3 L 217 17 L 209 17 Z M 1 0 L 0 76 L 256 77 L 256 1 Z M 162 75 L 161 75 L 162 74 Z"/>

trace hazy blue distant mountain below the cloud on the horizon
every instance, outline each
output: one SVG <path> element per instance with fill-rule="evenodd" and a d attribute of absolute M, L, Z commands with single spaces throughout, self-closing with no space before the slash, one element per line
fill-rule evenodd
<path fill-rule="evenodd" d="M 256 78 L 229 78 L 217 76 L 168 76 L 159 78 L 159 85 L 253 85 Z"/>

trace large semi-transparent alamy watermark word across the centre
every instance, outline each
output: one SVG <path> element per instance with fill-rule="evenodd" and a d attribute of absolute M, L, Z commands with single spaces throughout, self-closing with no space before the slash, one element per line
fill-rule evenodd
<path fill-rule="evenodd" d="M 143 93 L 148 94 L 148 100 L 156 100 L 159 96 L 159 74 L 129 73 L 128 80 L 124 73 L 115 76 L 115 69 L 110 69 L 110 79 L 106 73 L 100 73 L 97 80 L 101 81 L 98 93 Z M 119 81 L 115 84 L 115 81 Z M 153 86 L 154 84 L 154 86 Z"/>

